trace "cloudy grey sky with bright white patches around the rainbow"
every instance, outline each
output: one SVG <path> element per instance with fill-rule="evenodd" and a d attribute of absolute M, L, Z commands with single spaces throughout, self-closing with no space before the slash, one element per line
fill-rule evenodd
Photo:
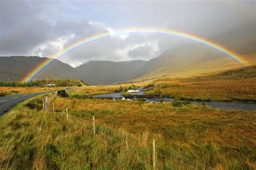
<path fill-rule="evenodd" d="M 50 57 L 79 39 L 124 28 L 157 27 L 211 38 L 254 25 L 255 1 L 0 0 L 0 56 Z M 149 60 L 184 40 L 148 34 L 112 35 L 59 60 Z"/>

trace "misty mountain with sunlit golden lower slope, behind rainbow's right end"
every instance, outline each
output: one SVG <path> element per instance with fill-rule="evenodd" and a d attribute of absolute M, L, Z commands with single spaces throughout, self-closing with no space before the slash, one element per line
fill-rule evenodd
<path fill-rule="evenodd" d="M 220 33 L 210 39 L 238 53 L 250 65 L 256 64 L 256 38 L 252 25 Z M 242 30 L 242 31 L 241 31 Z M 133 81 L 159 77 L 188 77 L 219 70 L 245 66 L 210 47 L 190 42 L 176 49 L 166 50 L 159 57 L 149 60 L 136 74 Z"/>

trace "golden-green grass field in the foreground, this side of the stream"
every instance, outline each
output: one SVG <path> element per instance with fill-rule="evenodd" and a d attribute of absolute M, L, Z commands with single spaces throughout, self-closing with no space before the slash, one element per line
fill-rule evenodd
<path fill-rule="evenodd" d="M 3 169 L 152 169 L 152 138 L 158 169 L 255 168 L 255 111 L 57 97 L 44 113 L 42 98 L 1 117 Z"/>

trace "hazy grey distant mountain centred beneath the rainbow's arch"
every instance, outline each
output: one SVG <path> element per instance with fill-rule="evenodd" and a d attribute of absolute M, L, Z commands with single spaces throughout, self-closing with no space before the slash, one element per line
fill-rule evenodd
<path fill-rule="evenodd" d="M 147 63 L 144 60 L 127 62 L 90 61 L 76 67 L 79 77 L 89 84 L 111 84 L 134 78 Z"/>

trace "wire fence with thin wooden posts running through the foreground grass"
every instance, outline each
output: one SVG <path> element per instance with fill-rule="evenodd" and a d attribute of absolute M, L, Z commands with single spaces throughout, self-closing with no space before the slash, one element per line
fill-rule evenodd
<path fill-rule="evenodd" d="M 54 97 L 50 97 L 50 101 L 52 101 L 52 112 L 55 112 L 54 108 Z M 45 97 L 43 100 L 43 111 L 44 112 L 50 112 L 49 111 L 49 102 L 48 97 Z M 69 121 L 69 111 L 68 108 L 65 110 L 66 112 L 66 119 Z M 109 119 L 109 117 L 106 118 Z M 120 135 L 120 142 L 124 143 L 126 146 L 127 151 L 132 150 L 135 152 L 140 153 L 141 155 L 144 155 L 145 158 L 147 158 L 148 161 L 150 161 L 152 168 L 157 169 L 158 168 L 158 159 L 169 159 L 174 162 L 176 165 L 183 165 L 188 169 L 213 169 L 210 166 L 206 166 L 204 164 L 201 164 L 200 162 L 188 159 L 184 157 L 183 155 L 171 151 L 170 149 L 166 149 L 163 147 L 160 147 L 157 145 L 157 139 L 152 136 L 149 138 L 149 132 L 144 132 L 142 135 L 142 140 L 139 140 L 138 138 L 134 137 L 134 135 L 124 131 L 124 130 L 117 130 L 115 128 L 109 127 L 105 124 L 102 124 L 100 122 L 97 122 L 97 119 L 95 118 L 95 115 L 92 116 L 91 121 L 89 119 L 86 120 L 87 124 L 91 124 L 91 132 L 93 135 L 103 134 L 103 135 L 109 135 L 109 134 L 117 134 Z M 151 142 L 148 142 L 149 139 L 151 139 Z M 140 146 L 147 150 L 147 154 L 139 151 L 134 146 Z M 166 154 L 168 153 L 168 154 Z M 193 165 L 190 165 L 193 164 Z M 196 166 L 194 166 L 196 165 Z"/>

